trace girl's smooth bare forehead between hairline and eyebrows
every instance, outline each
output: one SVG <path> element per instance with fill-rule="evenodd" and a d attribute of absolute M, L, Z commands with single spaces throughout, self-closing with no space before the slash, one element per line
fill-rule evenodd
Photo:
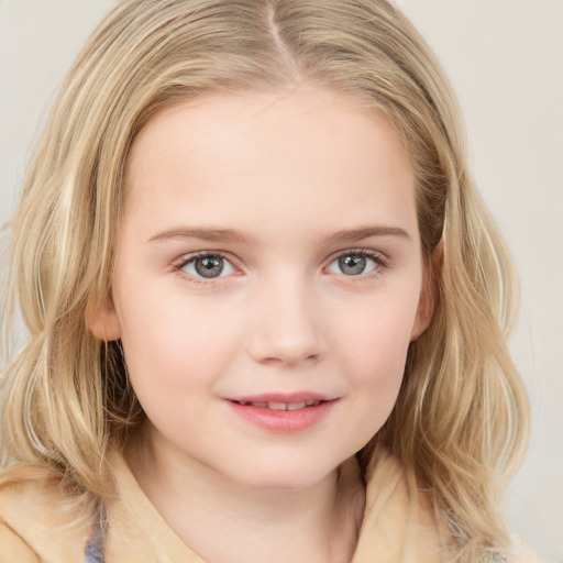
<path fill-rule="evenodd" d="M 412 166 L 389 121 L 314 88 L 166 108 L 135 139 L 126 180 L 125 217 L 147 222 L 416 221 Z"/>

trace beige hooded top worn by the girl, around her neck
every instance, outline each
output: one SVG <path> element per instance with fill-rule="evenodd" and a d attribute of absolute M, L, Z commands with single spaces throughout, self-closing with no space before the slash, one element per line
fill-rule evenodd
<path fill-rule="evenodd" d="M 205 563 L 163 520 L 121 457 L 115 459 L 115 476 L 119 497 L 108 507 L 106 563 Z M 88 534 L 65 526 L 57 500 L 47 479 L 2 488 L 0 563 L 85 561 Z M 391 455 L 380 456 L 368 479 L 352 563 L 445 563 L 445 533 L 413 479 Z"/>

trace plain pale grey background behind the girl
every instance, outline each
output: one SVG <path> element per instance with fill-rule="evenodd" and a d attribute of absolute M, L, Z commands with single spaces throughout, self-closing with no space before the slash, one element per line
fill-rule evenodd
<path fill-rule="evenodd" d="M 563 563 L 563 0 L 398 0 L 461 99 L 471 162 L 522 284 L 511 349 L 531 395 L 506 515 Z M 0 223 L 54 92 L 113 0 L 0 0 Z"/>

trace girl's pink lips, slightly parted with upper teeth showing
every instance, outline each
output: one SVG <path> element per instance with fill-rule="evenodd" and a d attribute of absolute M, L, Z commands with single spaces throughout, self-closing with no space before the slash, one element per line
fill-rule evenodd
<path fill-rule="evenodd" d="M 296 433 L 314 427 L 334 408 L 338 398 L 314 393 L 261 395 L 225 399 L 231 410 L 258 428 Z"/>

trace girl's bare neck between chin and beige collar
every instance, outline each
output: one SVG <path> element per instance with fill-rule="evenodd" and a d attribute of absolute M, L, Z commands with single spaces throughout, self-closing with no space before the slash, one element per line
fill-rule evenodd
<path fill-rule="evenodd" d="M 313 486 L 253 488 L 140 434 L 129 465 L 176 534 L 217 563 L 349 563 L 357 541 L 364 490 L 350 460 Z M 221 541 L 217 539 L 221 538 Z"/>

